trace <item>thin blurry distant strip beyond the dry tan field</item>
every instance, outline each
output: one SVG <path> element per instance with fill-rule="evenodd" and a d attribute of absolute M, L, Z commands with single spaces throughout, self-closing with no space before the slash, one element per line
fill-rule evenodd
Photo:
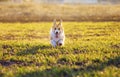
<path fill-rule="evenodd" d="M 0 0 L 11 2 L 38 2 L 38 3 L 120 3 L 120 0 Z"/>

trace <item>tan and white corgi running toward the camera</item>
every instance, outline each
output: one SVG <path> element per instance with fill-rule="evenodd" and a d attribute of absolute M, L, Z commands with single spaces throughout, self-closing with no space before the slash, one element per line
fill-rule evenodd
<path fill-rule="evenodd" d="M 62 20 L 57 24 L 56 20 L 50 30 L 50 43 L 53 47 L 63 46 L 65 41 L 64 29 L 62 27 Z"/>

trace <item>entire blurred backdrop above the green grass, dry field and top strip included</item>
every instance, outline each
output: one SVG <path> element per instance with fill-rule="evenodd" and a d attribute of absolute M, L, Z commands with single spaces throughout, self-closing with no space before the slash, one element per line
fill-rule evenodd
<path fill-rule="evenodd" d="M 119 21 L 120 0 L 0 0 L 0 22 Z"/>

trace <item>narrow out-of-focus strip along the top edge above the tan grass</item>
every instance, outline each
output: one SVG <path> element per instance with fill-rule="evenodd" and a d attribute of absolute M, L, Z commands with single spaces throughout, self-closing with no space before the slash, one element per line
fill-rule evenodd
<path fill-rule="evenodd" d="M 70 4 L 118 4 L 120 0 L 0 0 L 2 3 L 23 3 L 23 2 L 34 2 L 34 3 L 70 3 Z"/>

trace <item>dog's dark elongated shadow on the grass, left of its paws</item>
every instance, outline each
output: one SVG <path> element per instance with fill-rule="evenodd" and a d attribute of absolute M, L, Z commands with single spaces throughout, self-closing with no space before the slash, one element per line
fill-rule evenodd
<path fill-rule="evenodd" d="M 44 49 L 51 49 L 52 46 L 48 45 L 37 45 L 37 46 L 31 46 L 27 47 L 26 49 L 19 51 L 17 53 L 18 56 L 24 56 L 24 55 L 29 55 L 29 54 L 36 54 L 38 53 L 38 50 L 44 50 Z"/>

